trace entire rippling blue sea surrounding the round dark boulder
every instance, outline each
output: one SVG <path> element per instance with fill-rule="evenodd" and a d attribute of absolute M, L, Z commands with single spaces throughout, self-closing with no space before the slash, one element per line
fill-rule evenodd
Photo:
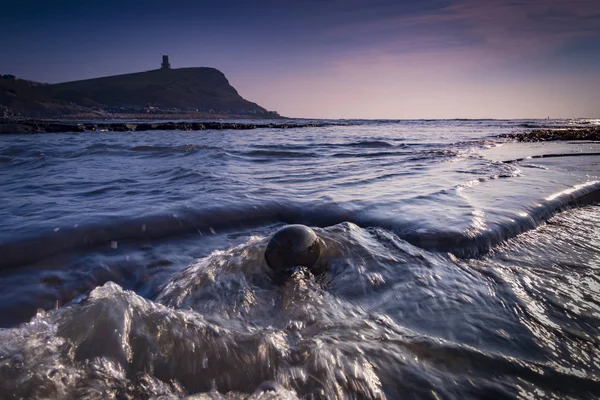
<path fill-rule="evenodd" d="M 0 136 L 0 398 L 598 398 L 599 123 Z"/>

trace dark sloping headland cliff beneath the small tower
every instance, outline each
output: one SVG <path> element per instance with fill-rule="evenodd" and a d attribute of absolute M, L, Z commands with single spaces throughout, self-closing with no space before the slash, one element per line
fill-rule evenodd
<path fill-rule="evenodd" d="M 58 84 L 0 77 L 0 115 L 60 117 L 204 112 L 264 115 L 214 68 L 160 69 Z"/>

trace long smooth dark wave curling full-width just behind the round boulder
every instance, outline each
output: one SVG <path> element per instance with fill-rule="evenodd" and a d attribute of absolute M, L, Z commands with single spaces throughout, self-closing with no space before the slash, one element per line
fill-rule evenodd
<path fill-rule="evenodd" d="M 526 212 L 485 231 L 459 232 L 429 230 L 394 218 L 381 218 L 368 212 L 348 210 L 332 204 L 309 206 L 301 203 L 273 202 L 229 208 L 182 210 L 169 214 L 121 218 L 110 222 L 46 231 L 35 237 L 0 244 L 0 269 L 33 263 L 63 251 L 118 241 L 158 240 L 192 232 L 214 233 L 272 223 L 301 223 L 331 226 L 352 222 L 361 227 L 379 227 L 401 239 L 431 251 L 450 252 L 459 257 L 476 257 L 499 243 L 531 230 L 556 213 L 568 208 L 600 201 L 600 181 L 591 181 L 553 194 L 525 207 Z"/>

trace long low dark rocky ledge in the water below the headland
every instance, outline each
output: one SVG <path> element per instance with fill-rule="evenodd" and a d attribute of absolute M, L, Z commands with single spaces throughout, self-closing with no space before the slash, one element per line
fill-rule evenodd
<path fill-rule="evenodd" d="M 290 129 L 330 126 L 331 123 L 269 123 L 252 124 L 238 122 L 63 122 L 39 120 L 0 119 L 0 134 L 27 133 L 77 133 L 77 132 L 142 132 L 142 131 L 203 131 L 208 129 Z"/>

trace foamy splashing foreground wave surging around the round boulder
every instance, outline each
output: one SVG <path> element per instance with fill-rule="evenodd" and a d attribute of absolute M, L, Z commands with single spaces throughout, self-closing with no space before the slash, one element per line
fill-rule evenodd
<path fill-rule="evenodd" d="M 503 277 L 493 257 L 465 263 L 424 254 L 388 232 L 348 223 L 317 231 L 331 266 L 325 280 L 273 284 L 262 256 L 267 239 L 253 237 L 171 275 L 155 296 L 107 282 L 1 329 L 0 397 L 598 392 L 590 353 L 571 347 L 593 352 L 597 321 L 571 305 L 558 315 L 572 324 L 545 324 L 540 293 L 511 291 L 513 276 Z M 473 273 L 474 262 L 482 274 Z M 560 280 L 570 285 L 566 273 Z M 556 297 L 552 290 L 542 299 L 555 310 Z M 583 332 L 569 329 L 585 321 Z"/>

